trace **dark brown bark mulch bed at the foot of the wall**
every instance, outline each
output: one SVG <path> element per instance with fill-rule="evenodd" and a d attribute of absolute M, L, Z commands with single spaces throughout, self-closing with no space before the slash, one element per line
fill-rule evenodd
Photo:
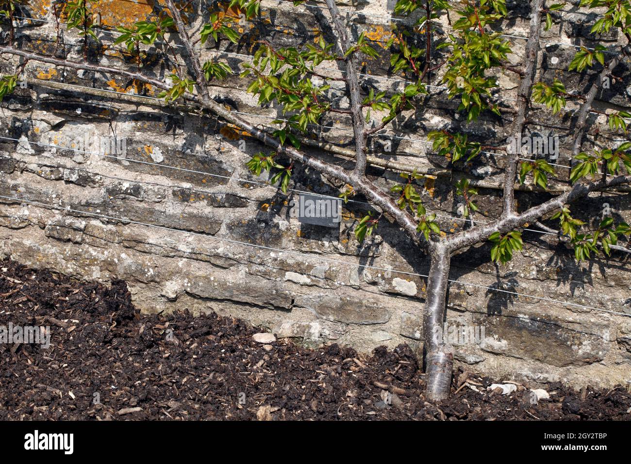
<path fill-rule="evenodd" d="M 468 372 L 433 405 L 407 345 L 370 357 L 287 341 L 266 350 L 244 321 L 141 316 L 125 282 L 108 288 L 5 260 L 0 326 L 9 323 L 50 326 L 52 336 L 47 349 L 0 344 L 0 419 L 631 419 L 623 388 L 551 384 L 551 400 L 531 407 L 528 389 L 500 395 Z"/>

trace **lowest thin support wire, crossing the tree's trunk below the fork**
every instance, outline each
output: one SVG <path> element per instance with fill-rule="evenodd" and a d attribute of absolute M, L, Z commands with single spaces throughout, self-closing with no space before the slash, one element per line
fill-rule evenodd
<path fill-rule="evenodd" d="M 420 274 L 420 273 L 415 273 L 415 272 L 401 271 L 401 270 L 396 270 L 396 269 L 392 269 L 392 268 L 382 268 L 382 267 L 371 266 L 371 265 L 360 265 L 360 264 L 357 264 L 357 263 L 350 263 L 349 261 L 342 261 L 342 260 L 339 260 L 339 259 L 324 258 L 322 256 L 313 256 L 311 254 L 302 253 L 300 251 L 293 251 L 293 250 L 269 247 L 269 246 L 260 245 L 260 244 L 241 242 L 241 241 L 238 241 L 238 240 L 227 239 L 225 237 L 215 237 L 215 235 L 202 234 L 201 232 L 191 232 L 189 230 L 174 229 L 172 227 L 167 227 L 167 226 L 164 226 L 164 225 L 157 225 L 157 224 L 151 224 L 151 223 L 146 223 L 146 222 L 139 222 L 139 221 L 134 221 L 134 220 L 131 220 L 131 219 L 119 218 L 119 217 L 114 217 L 114 216 L 108 216 L 108 215 L 103 215 L 103 214 L 99 214 L 99 213 L 90 213 L 89 211 L 74 210 L 73 208 L 69 208 L 69 207 L 50 205 L 49 203 L 42 203 L 40 201 L 33 201 L 33 200 L 25 199 L 25 198 L 16 198 L 16 197 L 5 196 L 5 195 L 0 195 L 0 198 L 8 199 L 10 201 L 20 201 L 21 203 L 28 203 L 30 205 L 44 206 L 45 208 L 54 208 L 56 210 L 61 210 L 61 211 L 70 211 L 70 212 L 73 212 L 73 213 L 80 213 L 80 214 L 84 214 L 84 215 L 90 215 L 90 216 L 93 216 L 93 217 L 98 217 L 98 218 L 103 218 L 103 219 L 115 220 L 115 221 L 126 222 L 126 223 L 133 223 L 133 224 L 136 224 L 136 225 L 143 225 L 143 226 L 146 226 L 146 227 L 153 227 L 155 229 L 169 230 L 171 232 L 179 232 L 179 233 L 182 233 L 182 234 L 198 235 L 198 236 L 201 236 L 201 237 L 206 237 L 207 239 L 214 239 L 216 241 L 227 242 L 227 243 L 237 244 L 237 245 L 246 246 L 246 247 L 255 247 L 257 249 L 266 249 L 268 251 L 275 251 L 277 253 L 293 254 L 293 255 L 296 255 L 296 256 L 301 256 L 302 258 L 315 259 L 315 260 L 318 260 L 318 261 L 326 261 L 328 263 L 336 263 L 336 264 L 339 264 L 339 265 L 351 266 L 353 268 L 355 268 L 355 267 L 356 268 L 366 268 L 366 269 L 372 269 L 372 270 L 377 270 L 377 271 L 394 272 L 394 273 L 398 273 L 398 274 L 402 274 L 402 275 L 412 275 L 412 276 L 421 277 L 421 278 L 428 278 L 428 276 L 425 275 L 425 274 Z M 528 295 L 528 294 L 522 294 L 522 293 L 519 293 L 519 292 L 512 292 L 510 290 L 496 289 L 496 288 L 493 288 L 493 287 L 487 287 L 485 285 L 479 285 L 479 284 L 476 284 L 476 283 L 463 282 L 462 280 L 449 279 L 449 282 L 457 283 L 457 284 L 460 284 L 460 285 L 466 285 L 466 286 L 469 286 L 469 287 L 476 287 L 476 288 L 479 288 L 479 289 L 487 289 L 487 290 L 491 290 L 492 292 L 501 292 L 501 293 L 504 293 L 504 294 L 516 295 L 516 296 L 525 297 L 525 298 L 533 298 L 533 299 L 538 299 L 538 300 L 541 300 L 541 301 L 547 301 L 547 302 L 562 304 L 562 305 L 565 305 L 565 306 L 581 307 L 581 308 L 584 308 L 584 309 L 591 309 L 593 311 L 606 312 L 606 313 L 609 313 L 609 314 L 616 314 L 618 316 L 631 317 L 631 314 L 627 314 L 626 312 L 610 311 L 608 309 L 602 309 L 602 308 L 593 307 L 593 306 L 586 306 L 584 304 L 572 303 L 572 302 L 567 302 L 567 301 L 555 300 L 555 299 L 551 299 L 551 298 L 548 298 L 548 297 L 539 297 L 539 296 L 536 296 L 536 295 Z"/>

